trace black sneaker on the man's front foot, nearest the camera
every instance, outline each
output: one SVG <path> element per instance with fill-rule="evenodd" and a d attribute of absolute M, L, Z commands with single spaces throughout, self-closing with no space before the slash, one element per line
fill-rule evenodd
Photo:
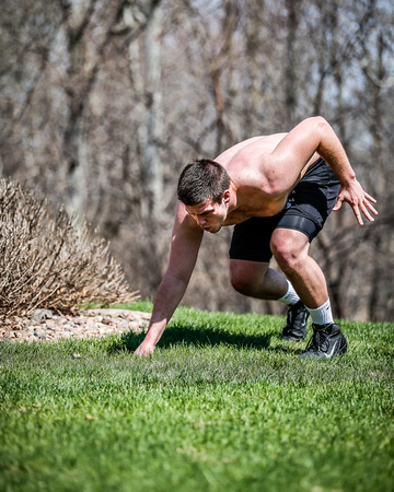
<path fill-rule="evenodd" d="M 313 335 L 302 359 L 332 359 L 346 352 L 347 341 L 338 325 L 312 325 L 312 328 Z"/>

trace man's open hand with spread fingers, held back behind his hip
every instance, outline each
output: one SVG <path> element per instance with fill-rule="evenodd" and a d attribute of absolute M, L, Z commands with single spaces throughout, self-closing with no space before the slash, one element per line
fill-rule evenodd
<path fill-rule="evenodd" d="M 339 210 L 344 201 L 350 204 L 360 225 L 363 225 L 361 212 L 370 222 L 374 221 L 370 212 L 378 215 L 378 211 L 372 206 L 372 203 L 376 203 L 376 200 L 362 189 L 357 179 L 347 186 L 340 186 L 338 199 L 333 211 Z"/>

